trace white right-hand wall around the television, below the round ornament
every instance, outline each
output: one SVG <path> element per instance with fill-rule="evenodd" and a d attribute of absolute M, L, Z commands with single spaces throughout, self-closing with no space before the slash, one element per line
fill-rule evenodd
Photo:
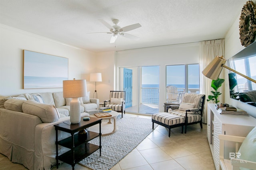
<path fill-rule="evenodd" d="M 242 9 L 242 7 L 241 7 Z M 239 18 L 236 18 L 236 21 L 234 21 L 232 27 L 230 27 L 230 30 L 228 31 L 226 37 L 225 37 L 225 59 L 229 59 L 230 57 L 234 56 L 236 53 L 244 49 L 245 47 L 241 45 L 240 38 L 239 38 Z M 228 84 L 228 70 L 223 69 L 224 75 L 225 75 L 225 103 L 231 104 L 234 107 L 238 107 L 240 109 L 246 110 L 251 116 L 256 118 L 256 107 L 250 106 L 248 104 L 244 104 L 242 102 L 239 102 L 234 99 L 230 99 L 229 96 L 229 84 Z"/>

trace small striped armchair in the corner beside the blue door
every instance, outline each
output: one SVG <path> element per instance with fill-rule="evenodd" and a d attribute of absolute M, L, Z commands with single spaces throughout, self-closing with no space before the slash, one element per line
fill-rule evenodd
<path fill-rule="evenodd" d="M 110 91 L 109 100 L 104 101 L 105 107 L 125 114 L 125 91 Z"/>

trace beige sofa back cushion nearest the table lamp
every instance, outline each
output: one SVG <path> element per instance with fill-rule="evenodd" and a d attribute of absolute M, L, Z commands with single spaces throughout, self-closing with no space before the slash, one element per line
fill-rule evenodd
<path fill-rule="evenodd" d="M 42 122 L 54 122 L 58 121 L 60 115 L 58 110 L 52 104 L 42 104 L 35 100 L 27 100 L 22 104 L 22 110 L 24 113 L 36 115 L 40 117 Z"/>

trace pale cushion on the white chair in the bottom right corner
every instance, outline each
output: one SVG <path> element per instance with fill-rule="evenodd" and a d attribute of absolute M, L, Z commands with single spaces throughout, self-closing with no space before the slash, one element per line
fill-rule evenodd
<path fill-rule="evenodd" d="M 256 127 L 248 133 L 238 152 L 240 153 L 239 159 L 256 162 Z M 240 170 L 248 169 L 240 167 Z"/>

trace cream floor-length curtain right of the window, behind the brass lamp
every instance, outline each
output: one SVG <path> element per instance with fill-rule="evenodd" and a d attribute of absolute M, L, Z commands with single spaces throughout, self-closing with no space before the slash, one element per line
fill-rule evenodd
<path fill-rule="evenodd" d="M 210 41 L 202 41 L 199 45 L 199 66 L 200 72 L 214 59 L 214 57 L 224 55 L 224 39 L 216 39 Z M 211 94 L 213 88 L 211 87 L 212 80 L 200 74 L 200 94 L 205 94 L 205 105 L 204 105 L 204 114 L 202 117 L 202 122 L 207 123 L 207 99 L 208 95 Z M 220 88 L 218 90 L 224 94 L 224 90 Z M 224 95 L 220 95 L 218 100 L 223 101 Z M 211 101 L 210 101 L 211 102 Z"/>

